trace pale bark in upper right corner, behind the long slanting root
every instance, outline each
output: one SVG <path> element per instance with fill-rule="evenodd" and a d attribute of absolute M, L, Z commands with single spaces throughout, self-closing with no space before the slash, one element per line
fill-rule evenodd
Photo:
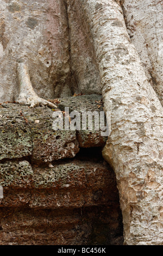
<path fill-rule="evenodd" d="M 163 1 L 123 0 L 131 42 L 163 105 Z"/>

